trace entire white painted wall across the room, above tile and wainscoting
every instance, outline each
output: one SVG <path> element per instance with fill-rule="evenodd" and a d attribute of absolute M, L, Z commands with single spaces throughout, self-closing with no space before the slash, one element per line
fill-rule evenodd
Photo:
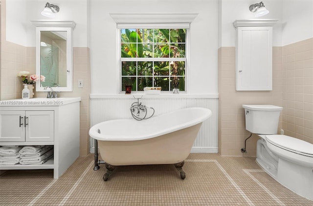
<path fill-rule="evenodd" d="M 35 46 L 35 27 L 30 20 L 49 19 L 40 14 L 45 3 L 46 0 L 6 0 L 7 40 L 23 46 Z M 60 6 L 60 12 L 54 19 L 76 22 L 74 47 L 87 47 L 90 41 L 91 93 L 95 94 L 117 94 L 119 88 L 117 30 L 110 13 L 198 13 L 191 24 L 192 55 L 188 93 L 216 94 L 217 49 L 221 46 L 235 46 L 236 35 L 232 23 L 235 19 L 255 19 L 248 7 L 256 1 L 54 0 L 50 3 Z M 264 4 L 270 13 L 259 19 L 279 19 L 273 28 L 274 46 L 313 36 L 312 0 L 266 0 Z"/>

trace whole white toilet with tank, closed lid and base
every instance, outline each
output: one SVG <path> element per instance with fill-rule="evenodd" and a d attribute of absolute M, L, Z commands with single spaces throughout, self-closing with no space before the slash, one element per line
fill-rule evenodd
<path fill-rule="evenodd" d="M 246 130 L 257 134 L 256 162 L 277 182 L 313 200 L 313 144 L 277 134 L 282 107 L 243 105 Z"/>

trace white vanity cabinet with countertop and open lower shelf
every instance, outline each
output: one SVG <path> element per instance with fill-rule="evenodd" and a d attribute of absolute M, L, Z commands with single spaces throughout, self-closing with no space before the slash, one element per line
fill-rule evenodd
<path fill-rule="evenodd" d="M 0 101 L 0 146 L 53 145 L 42 165 L 0 165 L 0 170 L 53 169 L 58 179 L 79 156 L 80 98 Z"/>

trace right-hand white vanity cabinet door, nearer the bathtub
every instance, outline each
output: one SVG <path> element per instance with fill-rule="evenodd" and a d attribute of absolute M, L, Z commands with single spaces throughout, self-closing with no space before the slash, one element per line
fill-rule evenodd
<path fill-rule="evenodd" d="M 26 111 L 26 142 L 53 142 L 54 140 L 54 112 Z"/>

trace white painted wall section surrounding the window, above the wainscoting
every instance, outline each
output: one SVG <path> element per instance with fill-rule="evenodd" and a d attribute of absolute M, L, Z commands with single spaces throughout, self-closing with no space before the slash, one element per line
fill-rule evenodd
<path fill-rule="evenodd" d="M 166 2 L 166 3 L 165 3 Z M 190 94 L 217 94 L 218 2 L 212 0 L 91 0 L 91 93 L 117 94 L 116 23 L 110 13 L 198 13 L 191 23 Z M 188 77 L 187 77 L 188 78 Z"/>

